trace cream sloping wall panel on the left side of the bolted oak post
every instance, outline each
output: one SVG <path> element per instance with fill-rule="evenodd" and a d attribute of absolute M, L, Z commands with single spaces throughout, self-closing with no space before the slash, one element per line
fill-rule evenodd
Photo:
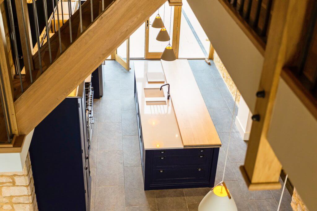
<path fill-rule="evenodd" d="M 263 56 L 218 0 L 187 0 L 253 113 Z"/>

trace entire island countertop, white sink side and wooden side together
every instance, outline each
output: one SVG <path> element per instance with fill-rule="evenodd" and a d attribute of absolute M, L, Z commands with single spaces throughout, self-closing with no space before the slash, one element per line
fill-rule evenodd
<path fill-rule="evenodd" d="M 135 61 L 134 72 L 146 150 L 221 146 L 187 59 Z M 163 73 L 164 83 L 148 83 L 148 72 Z M 159 89 L 166 83 L 171 85 L 170 100 L 168 86 L 163 87 L 164 97 L 145 97 L 145 88 Z M 166 105 L 146 105 L 146 101 Z"/>

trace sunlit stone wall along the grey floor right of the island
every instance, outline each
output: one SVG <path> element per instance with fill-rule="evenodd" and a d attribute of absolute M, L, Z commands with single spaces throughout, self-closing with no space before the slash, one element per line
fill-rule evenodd
<path fill-rule="evenodd" d="M 229 88 L 229 90 L 231 92 L 231 95 L 233 96 L 233 99 L 234 99 L 235 96 L 236 96 L 236 85 L 235 85 L 235 83 L 233 83 L 232 78 L 230 77 L 227 69 L 224 67 L 224 65 L 223 65 L 222 61 L 220 60 L 220 58 L 219 58 L 219 56 L 218 56 L 216 51 L 214 52 L 214 63 L 216 65 L 217 69 L 219 70 L 224 82 L 227 84 L 227 86 L 228 86 L 228 88 Z M 237 95 L 238 96 L 237 96 L 237 102 L 236 103 L 239 105 L 240 96 L 241 96 L 239 90 L 238 90 L 238 94 Z"/>

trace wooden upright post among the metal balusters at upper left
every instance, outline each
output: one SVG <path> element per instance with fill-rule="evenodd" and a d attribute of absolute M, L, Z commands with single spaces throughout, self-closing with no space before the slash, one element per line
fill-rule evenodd
<path fill-rule="evenodd" d="M 16 16 L 18 19 L 18 25 L 19 25 L 19 31 L 20 31 L 25 75 L 26 75 L 26 79 L 30 81 L 30 69 L 31 71 L 34 70 L 34 65 L 32 61 L 32 56 L 34 53 L 33 53 L 33 43 L 32 43 L 32 36 L 31 36 L 28 5 L 25 0 L 16 0 L 14 2 L 16 4 Z M 24 12 L 25 22 L 23 21 L 22 11 Z"/>

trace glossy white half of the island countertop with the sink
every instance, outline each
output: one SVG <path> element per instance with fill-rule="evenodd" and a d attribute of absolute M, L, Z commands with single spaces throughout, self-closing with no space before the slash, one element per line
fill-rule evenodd
<path fill-rule="evenodd" d="M 164 97 L 146 98 L 144 88 L 160 88 L 164 83 L 148 83 L 147 72 L 163 72 L 160 61 L 134 61 L 135 80 L 138 92 L 140 119 L 144 148 L 179 149 L 184 148 L 179 133 L 171 100 L 167 100 L 167 86 L 163 87 Z M 171 99 L 171 98 L 170 98 Z M 166 105 L 146 105 L 146 101 L 166 100 Z"/>

